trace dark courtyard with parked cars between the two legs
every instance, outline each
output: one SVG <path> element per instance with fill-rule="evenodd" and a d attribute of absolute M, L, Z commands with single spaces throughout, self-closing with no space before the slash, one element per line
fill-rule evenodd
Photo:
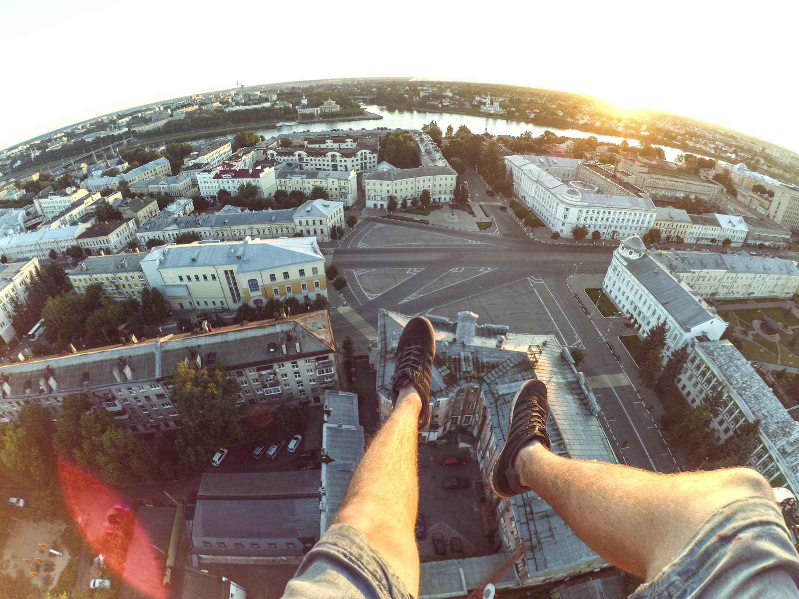
<path fill-rule="evenodd" d="M 466 466 L 443 467 L 441 460 L 450 455 L 465 458 Z M 467 478 L 470 485 L 466 489 L 444 490 L 443 481 L 447 478 Z M 431 540 L 435 533 L 443 535 L 447 555 L 452 537 L 461 539 L 466 556 L 491 553 L 480 523 L 482 504 L 475 489 L 479 480 L 479 468 L 470 450 L 457 449 L 454 442 L 432 448 L 419 446 L 419 514 L 423 514 L 427 526 L 427 537 L 418 541 L 420 555 L 435 555 Z"/>

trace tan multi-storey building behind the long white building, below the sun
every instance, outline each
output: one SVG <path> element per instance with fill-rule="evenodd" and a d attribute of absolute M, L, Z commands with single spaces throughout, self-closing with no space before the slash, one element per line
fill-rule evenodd
<path fill-rule="evenodd" d="M 719 192 L 719 186 L 714 181 L 678 171 L 669 162 L 654 156 L 628 154 L 618 161 L 614 173 L 619 179 L 647 193 L 678 197 L 687 194 L 712 201 Z"/>

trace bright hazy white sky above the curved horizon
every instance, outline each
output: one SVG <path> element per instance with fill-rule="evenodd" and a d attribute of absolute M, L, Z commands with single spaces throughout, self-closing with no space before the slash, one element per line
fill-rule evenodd
<path fill-rule="evenodd" d="M 799 151 L 797 5 L 0 0 L 0 148 L 236 81 L 436 77 L 586 93 Z"/>

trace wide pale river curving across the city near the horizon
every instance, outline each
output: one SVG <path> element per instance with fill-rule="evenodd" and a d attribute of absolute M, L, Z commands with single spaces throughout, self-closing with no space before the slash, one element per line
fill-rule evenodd
<path fill-rule="evenodd" d="M 471 114 L 455 113 L 428 113 L 421 110 L 395 110 L 386 109 L 376 105 L 367 105 L 366 110 L 370 113 L 379 114 L 383 117 L 377 121 L 316 121 L 305 122 L 300 125 L 290 125 L 288 127 L 254 129 L 258 135 L 272 137 L 280 133 L 293 133 L 298 131 L 329 131 L 330 129 L 374 129 L 376 127 L 386 127 L 388 129 L 421 129 L 422 125 L 430 121 L 436 121 L 442 132 L 447 130 L 447 125 L 452 125 L 452 129 L 457 130 L 460 125 L 466 125 L 471 133 L 483 133 L 487 131 L 492 135 L 517 136 L 525 131 L 533 134 L 533 137 L 541 135 L 544 131 L 551 131 L 555 135 L 562 137 L 589 137 L 590 132 L 579 129 L 558 129 L 557 127 L 543 127 L 533 125 L 523 121 L 506 121 L 502 118 L 477 117 Z M 615 137 L 613 135 L 597 135 L 600 142 L 606 141 L 612 144 L 619 144 L 622 140 L 627 140 L 630 145 L 638 145 L 639 140 L 634 137 Z M 666 153 L 666 160 L 674 161 L 678 154 L 685 153 L 686 150 L 671 148 L 666 145 L 656 145 Z M 700 156 L 698 153 L 694 153 Z"/>

